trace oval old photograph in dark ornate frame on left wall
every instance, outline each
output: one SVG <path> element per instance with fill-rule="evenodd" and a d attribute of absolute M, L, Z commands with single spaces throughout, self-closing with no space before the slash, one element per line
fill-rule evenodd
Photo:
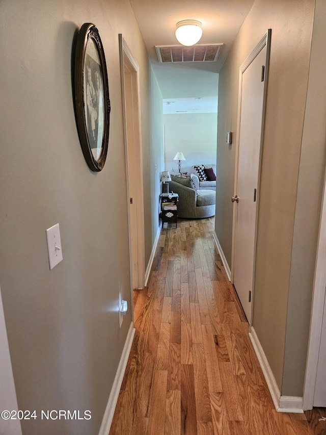
<path fill-rule="evenodd" d="M 74 93 L 80 145 L 89 168 L 98 172 L 107 155 L 111 105 L 103 45 L 92 23 L 83 24 L 77 36 Z"/>

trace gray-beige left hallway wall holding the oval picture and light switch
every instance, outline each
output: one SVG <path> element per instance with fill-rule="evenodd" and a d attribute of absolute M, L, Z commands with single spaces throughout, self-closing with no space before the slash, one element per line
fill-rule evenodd
<path fill-rule="evenodd" d="M 127 0 L 4 0 L 0 14 L 0 285 L 18 406 L 92 413 L 88 421 L 26 420 L 23 433 L 95 434 L 131 322 L 129 310 L 119 328 L 119 297 L 131 306 L 119 33 L 140 66 L 145 150 L 161 98 L 150 98 L 152 71 Z M 100 31 L 110 84 L 100 173 L 88 169 L 74 118 L 72 45 L 84 22 Z M 144 152 L 145 168 L 151 159 Z M 147 258 L 158 226 L 149 196 Z M 57 222 L 63 262 L 50 271 L 45 231 Z"/>

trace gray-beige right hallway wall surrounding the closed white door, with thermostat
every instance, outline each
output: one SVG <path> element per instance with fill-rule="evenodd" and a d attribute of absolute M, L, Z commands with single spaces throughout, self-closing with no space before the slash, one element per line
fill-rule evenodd
<path fill-rule="evenodd" d="M 235 143 L 239 67 L 266 30 L 272 29 L 260 184 L 253 326 L 281 391 L 284 355 L 289 351 L 293 376 L 286 394 L 293 396 L 302 395 L 303 379 L 299 375 L 302 375 L 301 367 L 305 363 L 306 354 L 303 349 L 293 352 L 286 348 L 285 338 L 314 6 L 313 0 L 256 0 L 220 72 L 219 85 L 219 189 L 216 192 L 216 209 L 221 212 L 216 215 L 215 231 L 231 266 L 233 206 L 230 198 L 234 189 L 235 146 L 226 145 L 226 132 L 234 132 Z M 310 165 L 306 176 L 311 169 Z M 314 175 L 314 181 L 321 186 L 319 169 Z M 316 206 L 314 202 L 314 207 Z M 310 214 L 307 208 L 304 210 L 304 207 L 301 207 L 301 211 L 306 216 Z M 317 214 L 318 210 L 315 210 L 314 216 Z M 311 243 L 314 246 L 315 241 Z M 312 255 L 311 251 L 308 255 Z M 314 261 L 310 257 L 310 265 L 311 260 Z M 304 262 L 306 259 L 302 257 L 301 261 Z M 297 278 L 300 280 L 300 277 L 304 276 L 304 269 L 299 267 L 297 272 L 300 275 Z M 303 286 L 297 289 L 299 297 L 305 293 L 306 289 Z M 304 321 L 303 327 L 309 330 L 307 320 L 310 301 L 304 311 L 304 318 L 300 317 L 297 322 Z M 292 344 L 292 350 L 293 346 L 295 345 Z M 299 358 L 300 363 L 296 364 L 293 361 L 294 357 Z"/>

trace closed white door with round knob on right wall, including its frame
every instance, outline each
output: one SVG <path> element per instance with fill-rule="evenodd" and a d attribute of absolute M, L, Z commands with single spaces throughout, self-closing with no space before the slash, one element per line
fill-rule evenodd
<path fill-rule="evenodd" d="M 268 36 L 269 35 L 269 36 Z M 240 68 L 237 170 L 234 210 L 233 285 L 251 323 L 257 200 L 270 32 Z"/>

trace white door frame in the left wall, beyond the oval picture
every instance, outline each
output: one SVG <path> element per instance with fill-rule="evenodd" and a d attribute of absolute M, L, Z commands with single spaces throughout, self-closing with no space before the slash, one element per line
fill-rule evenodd
<path fill-rule="evenodd" d="M 137 286 L 138 289 L 143 289 L 145 285 L 145 228 L 144 228 L 144 189 L 143 189 L 143 153 L 142 153 L 142 139 L 141 139 L 141 107 L 140 107 L 140 84 L 139 84 L 139 66 L 134 60 L 122 34 L 119 34 L 119 47 L 120 47 L 120 72 L 122 83 L 122 106 L 123 106 L 123 124 L 124 124 L 124 143 L 125 143 L 125 165 L 126 165 L 126 182 L 127 182 L 127 202 L 128 202 L 128 233 L 129 233 L 129 263 L 130 263 L 130 288 L 131 288 L 131 301 L 133 289 L 133 267 L 132 261 L 136 261 L 137 265 Z M 126 106 L 126 92 L 125 92 L 125 71 L 132 76 L 132 116 L 133 116 L 133 137 L 132 146 L 137 152 L 137 161 L 130 161 L 128 159 L 128 140 L 127 140 L 127 106 Z M 130 139 L 129 139 L 130 140 Z M 131 165 L 137 165 L 138 177 L 137 180 L 132 180 L 130 177 Z M 133 197 L 133 207 L 136 208 L 137 225 L 135 228 L 132 226 L 130 216 L 130 189 L 129 183 L 137 183 L 138 189 L 135 191 Z M 131 245 L 131 232 L 137 232 L 137 247 Z M 133 249 L 137 251 L 136 257 L 132 258 Z"/>

